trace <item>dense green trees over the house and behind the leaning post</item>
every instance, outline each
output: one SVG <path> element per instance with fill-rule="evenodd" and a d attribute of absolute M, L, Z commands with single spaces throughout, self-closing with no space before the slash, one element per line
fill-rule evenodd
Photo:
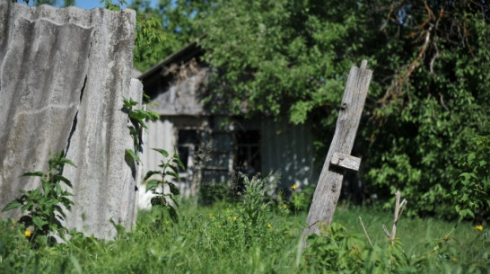
<path fill-rule="evenodd" d="M 366 58 L 374 75 L 357 142 L 369 190 L 399 189 L 409 214 L 451 217 L 456 155 L 490 133 L 489 10 L 484 0 L 217 1 L 197 23 L 218 68 L 207 102 L 310 120 L 322 160 L 349 67 Z"/>

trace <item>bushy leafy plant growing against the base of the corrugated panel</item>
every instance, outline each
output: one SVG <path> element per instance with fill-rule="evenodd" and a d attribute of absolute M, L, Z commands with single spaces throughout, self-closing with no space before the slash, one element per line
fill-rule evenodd
<path fill-rule="evenodd" d="M 31 243 L 48 243 L 48 236 L 58 234 L 64 237 L 67 230 L 61 223 L 66 219 L 65 209 L 70 211 L 73 202 L 68 198 L 72 193 L 66 187 L 72 188 L 72 183 L 63 177 L 65 164 L 73 165 L 73 162 L 65 158 L 63 151 L 53 155 L 48 161 L 48 172 L 26 172 L 22 176 L 39 177 L 41 185 L 35 190 L 20 190 L 22 196 L 8 203 L 2 210 L 8 211 L 21 208 L 26 213 L 21 217 L 22 223 L 30 233 Z M 62 182 L 66 185 L 62 185 Z M 27 232 L 26 232 L 27 233 Z M 51 240 L 49 240 L 51 241 Z"/>

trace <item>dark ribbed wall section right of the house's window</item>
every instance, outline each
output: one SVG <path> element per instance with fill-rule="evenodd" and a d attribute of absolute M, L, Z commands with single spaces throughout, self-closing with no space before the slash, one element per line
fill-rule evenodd
<path fill-rule="evenodd" d="M 313 178 L 313 150 L 309 125 L 262 120 L 262 172 L 280 173 L 283 187 L 310 184 Z"/>

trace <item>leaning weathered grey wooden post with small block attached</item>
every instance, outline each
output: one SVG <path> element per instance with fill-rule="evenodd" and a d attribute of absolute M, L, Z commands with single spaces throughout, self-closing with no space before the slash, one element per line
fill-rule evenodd
<path fill-rule="evenodd" d="M 364 102 L 371 82 L 372 70 L 363 60 L 361 67 L 353 66 L 347 79 L 346 91 L 337 119 L 332 143 L 319 175 L 317 189 L 313 195 L 308 227 L 303 235 L 319 234 L 320 226 L 330 225 L 334 216 L 337 200 L 342 187 L 346 170 L 357 172 L 361 159 L 350 155 L 354 146 L 354 138 L 359 127 Z"/>

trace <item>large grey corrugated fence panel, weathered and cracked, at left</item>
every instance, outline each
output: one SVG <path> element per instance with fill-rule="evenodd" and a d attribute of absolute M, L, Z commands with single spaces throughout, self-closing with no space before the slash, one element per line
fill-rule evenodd
<path fill-rule="evenodd" d="M 136 167 L 124 97 L 141 98 L 130 83 L 133 11 L 37 8 L 0 0 L 0 208 L 39 181 L 50 154 L 66 150 L 74 184 L 67 225 L 111 238 L 109 223 L 135 219 Z"/>

